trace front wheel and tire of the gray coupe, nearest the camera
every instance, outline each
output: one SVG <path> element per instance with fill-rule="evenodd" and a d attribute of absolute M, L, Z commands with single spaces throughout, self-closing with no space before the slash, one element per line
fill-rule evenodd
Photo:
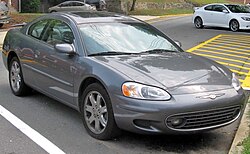
<path fill-rule="evenodd" d="M 119 135 L 108 93 L 98 83 L 90 84 L 82 95 L 81 117 L 87 132 L 99 140 Z"/>

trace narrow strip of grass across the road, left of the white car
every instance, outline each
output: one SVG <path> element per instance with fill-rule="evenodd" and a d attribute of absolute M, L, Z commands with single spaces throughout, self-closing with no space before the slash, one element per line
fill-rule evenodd
<path fill-rule="evenodd" d="M 192 9 L 145 9 L 130 11 L 129 15 L 153 15 L 153 16 L 161 16 L 161 15 L 173 15 L 173 14 L 187 14 L 193 13 Z"/>

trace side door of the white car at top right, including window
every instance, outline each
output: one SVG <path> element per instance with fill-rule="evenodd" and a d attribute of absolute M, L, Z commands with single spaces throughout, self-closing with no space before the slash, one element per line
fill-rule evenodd
<path fill-rule="evenodd" d="M 223 12 L 223 10 L 227 11 Z M 212 24 L 218 27 L 228 26 L 228 10 L 223 5 L 214 5 L 213 6 L 213 15 L 212 15 Z"/>

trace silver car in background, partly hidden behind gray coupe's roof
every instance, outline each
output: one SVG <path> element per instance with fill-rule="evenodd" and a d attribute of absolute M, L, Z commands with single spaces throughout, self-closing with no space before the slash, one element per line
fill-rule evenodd
<path fill-rule="evenodd" d="M 94 6 L 86 4 L 80 1 L 66 1 L 60 3 L 56 6 L 50 7 L 48 12 L 62 12 L 62 11 L 87 11 L 87 10 L 96 10 Z"/>

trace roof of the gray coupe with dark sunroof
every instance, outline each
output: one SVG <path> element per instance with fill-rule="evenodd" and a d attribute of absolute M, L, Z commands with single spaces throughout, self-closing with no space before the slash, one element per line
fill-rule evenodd
<path fill-rule="evenodd" d="M 84 23 L 142 22 L 134 17 L 107 11 L 56 12 L 52 14 L 67 16 L 78 25 Z"/>

